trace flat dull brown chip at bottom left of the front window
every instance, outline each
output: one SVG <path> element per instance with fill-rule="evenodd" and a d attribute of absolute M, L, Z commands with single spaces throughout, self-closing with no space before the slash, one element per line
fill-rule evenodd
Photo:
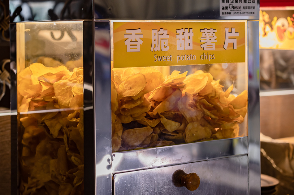
<path fill-rule="evenodd" d="M 139 146 L 152 131 L 151 127 L 127 129 L 122 134 L 122 141 L 129 146 Z"/>

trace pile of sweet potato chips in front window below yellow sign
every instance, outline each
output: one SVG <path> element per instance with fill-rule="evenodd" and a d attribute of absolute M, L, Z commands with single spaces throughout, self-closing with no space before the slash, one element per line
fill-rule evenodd
<path fill-rule="evenodd" d="M 232 90 L 201 70 L 165 77 L 152 67 L 114 68 L 112 151 L 239 136 L 248 92 Z"/>

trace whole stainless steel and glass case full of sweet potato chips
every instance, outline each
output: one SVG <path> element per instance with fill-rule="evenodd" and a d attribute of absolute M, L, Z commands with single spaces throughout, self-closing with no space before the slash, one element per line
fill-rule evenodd
<path fill-rule="evenodd" d="M 11 24 L 12 194 L 260 193 L 258 3 L 74 2 Z"/>

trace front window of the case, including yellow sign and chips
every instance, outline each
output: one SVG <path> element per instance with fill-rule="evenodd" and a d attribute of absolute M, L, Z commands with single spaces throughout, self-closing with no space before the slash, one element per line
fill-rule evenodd
<path fill-rule="evenodd" d="M 247 136 L 245 22 L 111 24 L 113 152 Z"/>

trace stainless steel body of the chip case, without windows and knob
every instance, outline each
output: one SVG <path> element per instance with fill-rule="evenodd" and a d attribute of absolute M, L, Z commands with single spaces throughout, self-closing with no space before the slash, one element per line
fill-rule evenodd
<path fill-rule="evenodd" d="M 88 64 L 92 64 L 92 61 L 94 64 L 92 66 L 94 121 L 91 121 L 90 115 L 89 117 L 84 116 L 85 125 L 93 124 L 94 126 L 94 131 L 92 131 L 92 128 L 87 129 L 88 133 L 85 132 L 84 138 L 84 148 L 85 151 L 88 150 L 84 156 L 85 194 L 197 194 L 218 192 L 260 194 L 258 14 L 220 16 L 220 4 L 221 1 L 215 0 L 210 2 L 141 1 L 140 3 L 135 1 L 94 1 L 93 17 L 86 19 L 82 16 L 73 17 L 75 20 L 83 22 L 84 59 L 88 60 Z M 258 10 L 258 1 L 256 5 Z M 70 16 L 67 17 L 67 19 L 69 18 Z M 58 20 L 59 18 L 55 19 Z M 230 139 L 112 152 L 110 78 L 113 29 L 111 29 L 111 21 L 191 21 L 198 19 L 245 20 L 248 26 L 246 28 L 248 42 L 246 43 L 247 55 L 245 60 L 248 70 L 248 135 Z M 51 20 L 53 19 L 51 18 Z M 15 38 L 14 27 L 15 23 L 12 23 L 12 38 Z M 13 39 L 11 51 L 11 67 L 13 72 L 16 73 L 13 65 L 16 60 Z M 86 54 L 88 54 L 87 57 L 85 57 Z M 91 77 L 89 76 L 89 78 Z M 13 75 L 11 79 L 16 81 Z M 12 84 L 13 87 L 16 86 Z M 86 87 L 84 85 L 84 90 Z M 91 88 L 92 85 L 88 87 L 88 89 Z M 14 95 L 16 91 L 11 94 L 11 109 L 16 110 L 16 96 Z M 12 115 L 11 119 L 12 129 L 16 129 L 16 115 Z M 12 149 L 16 151 L 16 132 L 12 131 L 11 137 Z M 16 156 L 12 156 L 12 166 L 17 167 Z M 199 189 L 189 191 L 184 187 L 175 187 L 172 183 L 172 176 L 178 169 L 182 169 L 185 173 L 197 173 L 200 176 Z M 18 179 L 16 170 L 13 171 L 12 194 L 16 194 Z"/>

